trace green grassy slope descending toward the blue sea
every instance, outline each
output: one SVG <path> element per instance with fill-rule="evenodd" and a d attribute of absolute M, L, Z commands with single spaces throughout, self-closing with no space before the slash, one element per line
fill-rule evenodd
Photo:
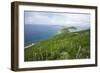
<path fill-rule="evenodd" d="M 25 61 L 90 58 L 90 30 L 64 32 L 25 49 Z"/>

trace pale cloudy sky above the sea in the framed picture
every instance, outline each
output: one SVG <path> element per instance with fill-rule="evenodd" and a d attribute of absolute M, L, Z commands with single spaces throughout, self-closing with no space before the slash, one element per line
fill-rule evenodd
<path fill-rule="evenodd" d="M 90 14 L 71 12 L 25 11 L 25 24 L 90 27 Z"/>

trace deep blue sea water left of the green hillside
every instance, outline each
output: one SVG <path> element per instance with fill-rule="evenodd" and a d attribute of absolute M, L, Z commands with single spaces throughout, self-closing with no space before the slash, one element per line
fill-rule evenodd
<path fill-rule="evenodd" d="M 36 43 L 45 40 L 55 35 L 60 29 L 57 25 L 38 25 L 25 24 L 24 25 L 24 46 L 31 43 Z"/>

